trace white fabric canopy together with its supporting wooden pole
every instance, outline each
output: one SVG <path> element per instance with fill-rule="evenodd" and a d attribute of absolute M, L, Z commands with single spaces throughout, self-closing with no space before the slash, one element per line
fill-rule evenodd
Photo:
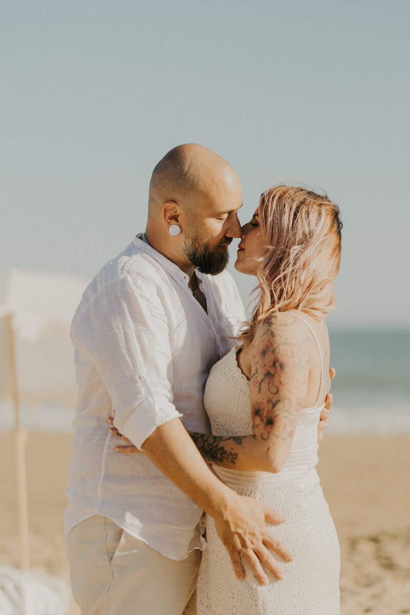
<path fill-rule="evenodd" d="M 11 399 L 15 412 L 14 469 L 21 568 L 30 566 L 30 553 L 26 433 L 20 427 L 20 402 L 37 405 L 57 401 L 74 405 L 77 387 L 69 328 L 86 286 L 87 280 L 79 277 L 14 267 L 0 276 L 0 400 Z M 16 576 L 16 582 L 18 579 L 23 577 Z M 9 589 L 17 587 L 9 581 L 6 585 Z M 6 600 L 4 587 L 0 598 Z M 23 581 L 21 588 L 24 596 Z M 57 609 L 36 611 L 49 612 L 57 613 Z"/>

